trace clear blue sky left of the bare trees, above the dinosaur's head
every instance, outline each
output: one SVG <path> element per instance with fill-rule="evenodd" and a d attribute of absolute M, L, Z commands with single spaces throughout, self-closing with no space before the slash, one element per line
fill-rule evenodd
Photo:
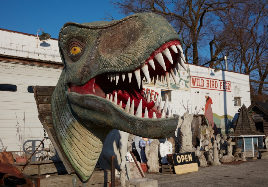
<path fill-rule="evenodd" d="M 101 21 L 105 12 L 121 19 L 124 15 L 110 6 L 109 0 L 85 1 L 1 1 L 0 28 L 29 34 L 37 34 L 38 29 L 58 38 L 60 28 L 68 21 L 85 23 Z M 40 32 L 39 32 L 40 33 Z M 38 35 L 40 35 L 38 33 Z"/>

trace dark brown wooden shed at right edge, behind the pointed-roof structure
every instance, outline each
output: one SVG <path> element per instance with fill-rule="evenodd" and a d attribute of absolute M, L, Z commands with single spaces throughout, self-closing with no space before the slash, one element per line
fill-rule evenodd
<path fill-rule="evenodd" d="M 268 136 L 268 103 L 255 101 L 248 107 L 248 111 L 257 131 L 265 133 L 266 138 Z"/>

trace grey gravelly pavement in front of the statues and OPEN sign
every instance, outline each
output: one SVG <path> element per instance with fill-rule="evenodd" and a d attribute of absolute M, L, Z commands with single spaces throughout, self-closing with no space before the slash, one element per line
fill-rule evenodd
<path fill-rule="evenodd" d="M 261 187 L 268 186 L 268 160 L 248 160 L 241 164 L 199 167 L 197 172 L 185 174 L 145 173 L 158 180 L 158 187 Z"/>

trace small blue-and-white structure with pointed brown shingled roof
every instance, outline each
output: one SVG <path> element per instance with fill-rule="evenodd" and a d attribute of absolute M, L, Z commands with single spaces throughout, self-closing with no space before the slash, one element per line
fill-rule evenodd
<path fill-rule="evenodd" d="M 245 152 L 246 157 L 258 157 L 258 136 L 265 136 L 265 134 L 257 131 L 245 105 L 241 107 L 235 125 L 235 131 L 230 133 L 229 136 L 236 140 L 236 147 L 241 148 L 241 152 Z"/>

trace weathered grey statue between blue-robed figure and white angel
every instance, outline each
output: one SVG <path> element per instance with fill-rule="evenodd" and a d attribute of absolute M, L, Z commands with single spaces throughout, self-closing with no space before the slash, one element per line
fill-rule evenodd
<path fill-rule="evenodd" d="M 158 162 L 158 144 L 157 142 L 151 142 L 145 146 L 145 155 L 147 158 L 148 172 L 159 172 Z"/>

